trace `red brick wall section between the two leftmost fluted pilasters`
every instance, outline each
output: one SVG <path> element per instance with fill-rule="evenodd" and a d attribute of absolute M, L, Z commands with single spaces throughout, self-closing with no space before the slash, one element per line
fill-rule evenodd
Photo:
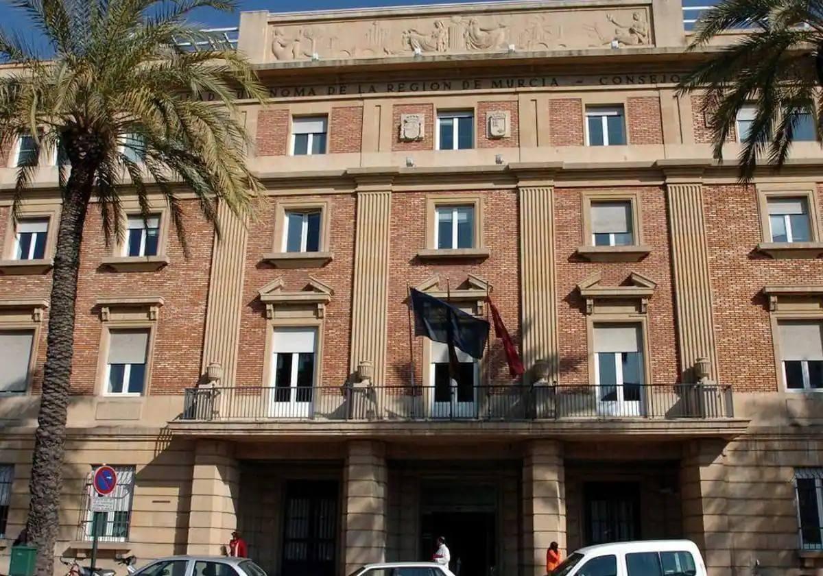
<path fill-rule="evenodd" d="M 314 196 L 301 196 L 307 202 Z M 309 281 L 309 274 L 332 286 L 334 295 L 326 305 L 323 329 L 323 386 L 342 386 L 349 375 L 351 342 L 351 285 L 354 266 L 355 208 L 351 195 L 323 196 L 331 198 L 328 215 L 331 218 L 329 249 L 334 259 L 322 268 L 280 269 L 262 264 L 263 253 L 272 251 L 276 200 L 262 202 L 257 221 L 249 225 L 246 248 L 246 270 L 243 313 L 240 324 L 237 366 L 238 386 L 260 386 L 266 381 L 263 356 L 266 346 L 265 306 L 258 299 L 258 290 L 282 276 L 286 290 L 300 290 Z"/>

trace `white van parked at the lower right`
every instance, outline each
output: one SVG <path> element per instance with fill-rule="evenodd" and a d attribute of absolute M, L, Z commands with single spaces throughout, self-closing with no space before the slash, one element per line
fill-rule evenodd
<path fill-rule="evenodd" d="M 692 541 L 646 540 L 581 548 L 551 576 L 706 576 L 706 567 Z"/>

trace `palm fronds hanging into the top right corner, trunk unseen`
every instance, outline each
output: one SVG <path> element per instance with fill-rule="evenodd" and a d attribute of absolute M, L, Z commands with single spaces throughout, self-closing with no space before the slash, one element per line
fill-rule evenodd
<path fill-rule="evenodd" d="M 730 30 L 747 34 L 723 49 L 708 44 Z M 823 0 L 722 0 L 703 13 L 690 50 L 709 57 L 681 81 L 681 92 L 705 91 L 704 114 L 712 119 L 714 156 L 732 134 L 737 113 L 754 105 L 754 121 L 739 158 L 741 177 L 751 179 L 757 160 L 785 162 L 797 128 L 812 114 L 817 139 L 823 130 Z"/>

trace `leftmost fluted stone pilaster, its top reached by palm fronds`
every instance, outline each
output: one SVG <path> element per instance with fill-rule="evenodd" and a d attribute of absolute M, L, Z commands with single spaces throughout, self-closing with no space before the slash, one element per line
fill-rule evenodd
<path fill-rule="evenodd" d="M 212 247 L 212 272 L 208 286 L 206 335 L 203 340 L 202 372 L 212 362 L 223 367 L 221 384 L 235 382 L 240 312 L 243 304 L 243 280 L 248 230 L 220 202 L 217 221 L 221 237 L 215 235 Z"/>

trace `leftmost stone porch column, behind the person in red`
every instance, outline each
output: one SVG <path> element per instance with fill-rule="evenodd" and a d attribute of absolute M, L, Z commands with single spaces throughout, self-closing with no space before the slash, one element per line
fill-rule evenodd
<path fill-rule="evenodd" d="M 188 554 L 220 555 L 237 527 L 239 468 L 234 446 L 199 440 L 194 454 Z"/>

